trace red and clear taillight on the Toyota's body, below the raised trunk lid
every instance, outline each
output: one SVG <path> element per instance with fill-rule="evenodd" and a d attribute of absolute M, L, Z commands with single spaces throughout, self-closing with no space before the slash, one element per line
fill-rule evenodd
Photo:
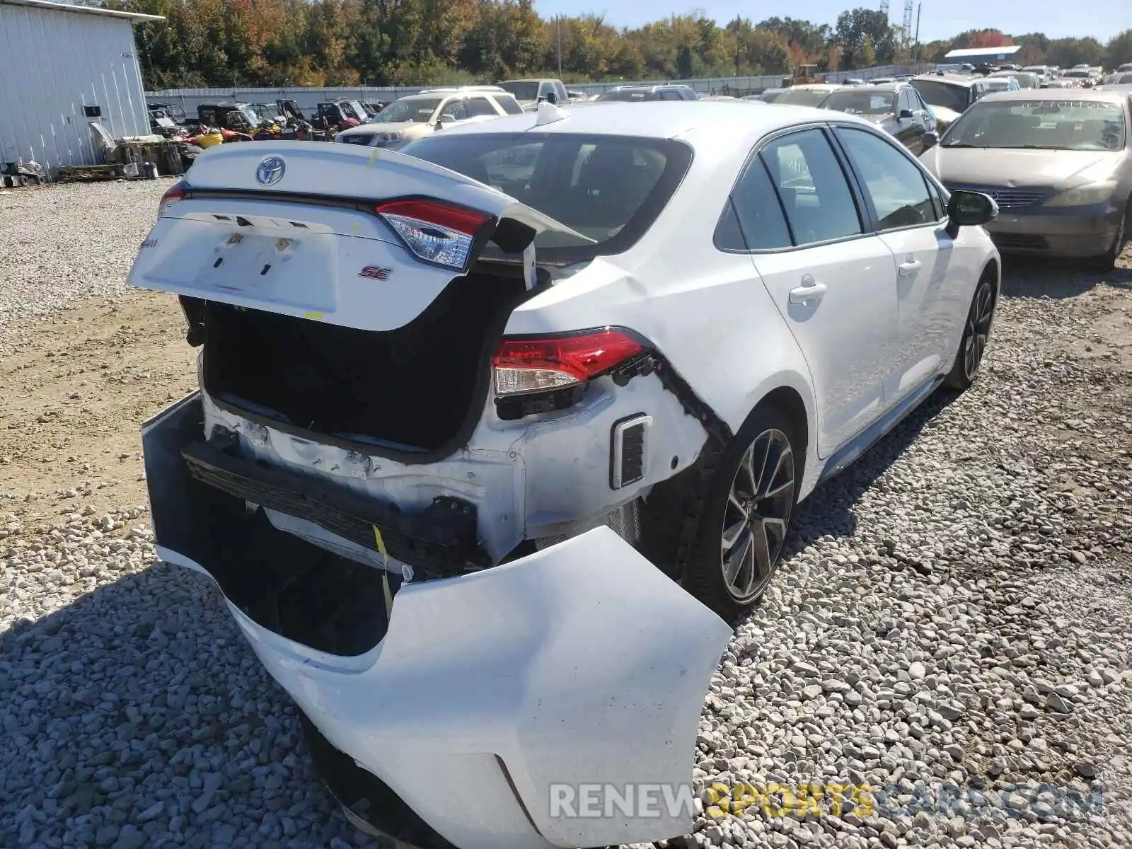
<path fill-rule="evenodd" d="M 567 336 L 505 338 L 491 360 L 496 395 L 560 389 L 603 375 L 646 350 L 614 327 Z"/>

